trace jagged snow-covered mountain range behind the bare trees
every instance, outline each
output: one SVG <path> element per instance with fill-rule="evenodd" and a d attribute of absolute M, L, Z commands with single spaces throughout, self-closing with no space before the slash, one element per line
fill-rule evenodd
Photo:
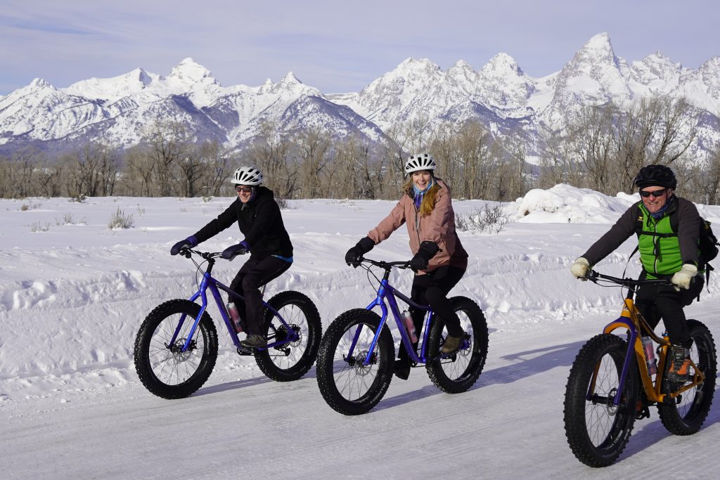
<path fill-rule="evenodd" d="M 225 87 L 192 58 L 168 76 L 137 68 L 66 88 L 36 78 L 0 96 L 0 153 L 25 145 L 60 150 L 89 140 L 127 148 L 157 122 L 180 122 L 195 139 L 217 140 L 228 148 L 242 148 L 267 121 L 285 132 L 319 127 L 336 137 L 359 135 L 377 142 L 393 126 L 413 119 L 425 119 L 431 128 L 478 119 L 495 135 L 519 129 L 533 139 L 541 125 L 562 127 L 583 105 L 612 101 L 629 107 L 652 94 L 685 96 L 701 112 L 700 148 L 720 141 L 720 57 L 697 70 L 660 52 L 627 62 L 601 33 L 561 71 L 542 78 L 526 75 L 506 53 L 479 71 L 464 60 L 443 71 L 431 60 L 408 58 L 348 94 L 324 94 L 292 72 L 276 83 Z"/>

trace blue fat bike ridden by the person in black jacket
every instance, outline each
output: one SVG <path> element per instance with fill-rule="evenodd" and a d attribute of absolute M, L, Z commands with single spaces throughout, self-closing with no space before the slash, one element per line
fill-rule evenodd
<path fill-rule="evenodd" d="M 184 248 L 181 255 L 190 258 L 197 271 L 207 262 L 199 288 L 189 300 L 168 300 L 155 307 L 140 325 L 135 338 L 135 370 L 151 393 L 165 399 L 188 397 L 207 381 L 217 360 L 217 331 L 207 313 L 210 289 L 230 339 L 240 355 L 253 355 L 261 371 L 274 381 L 300 379 L 318 356 L 322 335 L 320 314 L 315 304 L 298 291 L 283 291 L 264 305 L 266 348 L 248 350 L 240 345 L 232 320 L 220 298 L 220 290 L 244 304 L 243 296 L 210 276 L 215 259 L 221 253 Z M 204 263 L 204 262 L 203 262 Z M 202 304 L 195 301 L 200 299 Z"/>

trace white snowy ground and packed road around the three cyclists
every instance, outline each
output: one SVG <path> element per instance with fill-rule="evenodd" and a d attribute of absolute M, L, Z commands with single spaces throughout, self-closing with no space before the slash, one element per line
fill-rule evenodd
<path fill-rule="evenodd" d="M 195 282 L 192 263 L 169 248 L 232 199 L 1 200 L 0 477 L 604 479 L 649 478 L 682 464 L 679 478 L 716 478 L 717 407 L 689 437 L 667 433 L 652 411 L 618 462 L 600 470 L 578 462 L 564 438 L 570 363 L 621 303 L 617 289 L 576 281 L 568 268 L 635 199 L 556 186 L 506 206 L 513 222 L 498 235 L 461 232 L 470 266 L 453 294 L 475 299 L 490 327 L 480 380 L 464 394 L 443 394 L 416 368 L 360 417 L 325 404 L 314 368 L 299 381 L 269 381 L 222 332 L 215 371 L 192 397 L 159 399 L 138 381 L 140 322 L 156 304 L 189 296 Z M 343 255 L 394 202 L 290 204 L 283 216 L 295 263 L 267 295 L 304 292 L 327 327 L 372 299 L 364 272 Z M 469 214 L 483 204 L 455 207 Z M 108 229 L 118 208 L 134 227 Z M 720 207 L 701 214 L 720 222 Z M 232 227 L 202 247 L 222 250 L 238 235 Z M 369 256 L 408 258 L 407 240 L 400 230 Z M 627 242 L 598 270 L 621 274 L 633 247 Z M 229 281 L 242 262 L 218 263 L 214 273 Z M 634 258 L 629 272 L 638 271 Z M 718 278 L 686 310 L 716 338 Z M 394 281 L 408 289 L 411 273 Z"/>

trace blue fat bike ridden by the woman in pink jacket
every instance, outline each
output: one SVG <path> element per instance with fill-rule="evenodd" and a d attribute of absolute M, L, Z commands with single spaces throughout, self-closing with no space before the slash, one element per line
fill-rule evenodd
<path fill-rule="evenodd" d="M 374 276 L 371 266 L 382 268 L 384 275 L 382 280 L 374 276 L 379 286 L 372 303 L 340 314 L 323 335 L 316 373 L 325 402 L 343 415 L 360 415 L 369 412 L 384 396 L 395 363 L 395 343 L 387 324 L 388 304 L 400 332 L 400 348 L 405 348 L 412 365 L 424 363 L 431 381 L 442 391 L 454 394 L 469 389 L 487 358 L 487 324 L 480 307 L 464 296 L 450 299 L 465 335 L 459 350 L 442 354 L 447 336 L 444 321 L 430 307 L 413 302 L 388 281 L 392 268 L 408 268 L 408 262 L 362 258 L 359 266 L 368 271 L 368 278 Z M 396 296 L 410 307 L 427 312 L 419 351 L 413 348 L 405 330 Z M 375 307 L 381 309 L 382 317 L 372 312 Z"/>

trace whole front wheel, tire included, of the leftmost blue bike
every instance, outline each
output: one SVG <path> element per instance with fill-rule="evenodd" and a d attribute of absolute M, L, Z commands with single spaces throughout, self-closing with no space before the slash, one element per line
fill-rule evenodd
<path fill-rule="evenodd" d="M 189 349 L 180 349 L 200 312 L 189 300 L 169 300 L 155 307 L 135 338 L 135 371 L 151 393 L 164 399 L 184 398 L 197 391 L 215 367 L 217 332 L 207 312 L 202 314 Z M 175 343 L 170 344 L 182 315 L 186 315 Z"/>

